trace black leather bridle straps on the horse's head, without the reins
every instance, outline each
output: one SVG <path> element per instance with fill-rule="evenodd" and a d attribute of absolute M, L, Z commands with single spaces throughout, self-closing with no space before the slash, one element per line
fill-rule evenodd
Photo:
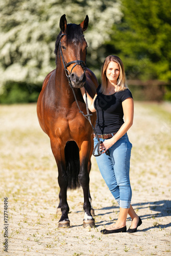
<path fill-rule="evenodd" d="M 64 70 L 65 70 L 65 73 L 66 73 L 66 76 L 67 76 L 67 78 L 68 78 L 68 81 L 69 81 L 69 84 L 70 84 L 70 86 L 72 87 L 72 84 L 71 84 L 71 78 L 70 78 L 70 76 L 71 76 L 71 74 L 72 74 L 72 71 L 73 71 L 73 69 L 75 68 L 75 66 L 81 66 L 81 68 L 83 69 L 83 71 L 84 71 L 84 74 L 86 73 L 86 69 L 87 69 L 87 67 L 86 67 L 86 62 L 84 62 L 83 60 L 73 60 L 73 61 L 70 61 L 70 62 L 66 62 L 65 61 L 65 59 L 64 59 L 64 57 L 63 57 L 63 53 L 62 53 L 62 48 L 61 48 L 61 38 L 62 38 L 62 36 L 64 36 L 64 35 L 67 35 L 67 34 L 61 34 L 61 36 L 60 36 L 60 42 L 59 42 L 59 51 L 60 51 L 60 55 L 61 55 L 61 57 L 62 57 L 62 62 L 63 62 L 63 67 L 64 67 Z M 82 35 L 82 36 L 84 36 L 84 35 Z M 87 57 L 87 51 L 86 51 L 86 57 Z M 75 65 L 72 67 L 72 69 L 71 69 L 71 72 L 69 72 L 69 70 L 67 69 L 71 64 L 74 64 L 75 63 Z"/>

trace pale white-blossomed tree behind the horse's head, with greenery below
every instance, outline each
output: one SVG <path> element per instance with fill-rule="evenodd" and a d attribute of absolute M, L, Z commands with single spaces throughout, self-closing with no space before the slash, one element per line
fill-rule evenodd
<path fill-rule="evenodd" d="M 89 15 L 89 28 L 85 32 L 88 67 L 99 75 L 105 54 L 104 41 L 109 39 L 114 22 L 121 18 L 117 2 L 3 0 L 0 3 L 0 94 L 4 96 L 0 102 L 13 102 L 16 98 L 17 101 L 36 100 L 45 76 L 55 69 L 55 40 L 64 13 L 68 23 L 76 24 Z"/>

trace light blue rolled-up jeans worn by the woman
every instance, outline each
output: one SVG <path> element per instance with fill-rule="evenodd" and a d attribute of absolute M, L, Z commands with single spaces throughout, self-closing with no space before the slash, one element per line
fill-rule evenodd
<path fill-rule="evenodd" d="M 100 139 L 100 141 L 104 141 Z M 94 146 L 98 143 L 94 138 Z M 123 135 L 113 146 L 109 148 L 110 155 L 101 154 L 96 157 L 100 173 L 109 187 L 119 207 L 130 208 L 132 189 L 130 184 L 130 157 L 132 144 Z"/>

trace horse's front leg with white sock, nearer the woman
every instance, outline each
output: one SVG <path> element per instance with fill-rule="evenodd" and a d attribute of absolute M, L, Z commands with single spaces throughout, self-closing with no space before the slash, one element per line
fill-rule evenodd
<path fill-rule="evenodd" d="M 83 196 L 84 196 L 84 219 L 83 219 L 83 227 L 94 227 L 95 220 L 91 215 L 91 203 L 89 201 L 89 173 L 88 173 L 88 162 L 90 157 L 90 148 L 91 142 L 90 141 L 83 141 L 81 145 L 81 150 L 79 153 L 80 157 L 80 171 L 79 171 L 79 182 L 83 189 Z"/>

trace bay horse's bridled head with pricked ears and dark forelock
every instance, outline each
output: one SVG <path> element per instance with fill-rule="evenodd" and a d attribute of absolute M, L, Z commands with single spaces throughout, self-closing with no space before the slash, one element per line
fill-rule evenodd
<path fill-rule="evenodd" d="M 86 83 L 86 49 L 83 31 L 89 24 L 88 15 L 79 25 L 67 24 L 66 15 L 60 18 L 60 33 L 55 44 L 56 61 L 59 56 L 66 75 L 74 88 L 81 88 Z"/>

